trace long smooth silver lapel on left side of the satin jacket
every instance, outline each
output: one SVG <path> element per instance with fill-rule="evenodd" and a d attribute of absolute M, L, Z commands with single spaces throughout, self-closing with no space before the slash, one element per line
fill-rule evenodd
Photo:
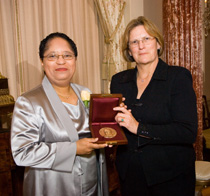
<path fill-rule="evenodd" d="M 58 95 L 56 94 L 54 88 L 52 87 L 51 83 L 49 82 L 48 78 L 45 76 L 42 81 L 43 89 L 49 99 L 49 102 L 56 113 L 58 119 L 63 124 L 65 130 L 67 131 L 69 138 L 71 141 L 78 140 L 78 133 L 72 122 L 71 118 L 62 104 L 61 100 L 59 99 Z"/>

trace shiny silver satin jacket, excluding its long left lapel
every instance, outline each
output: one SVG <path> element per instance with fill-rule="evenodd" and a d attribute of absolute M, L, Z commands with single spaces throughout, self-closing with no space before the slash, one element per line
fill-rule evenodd
<path fill-rule="evenodd" d="M 77 84 L 71 86 L 81 102 L 81 90 L 90 91 Z M 80 195 L 80 187 L 74 181 L 75 172 L 80 169 L 80 157 L 76 156 L 78 139 L 73 122 L 46 76 L 41 85 L 18 97 L 12 119 L 11 149 L 15 163 L 26 167 L 25 195 L 29 192 L 39 196 Z M 98 195 L 108 195 L 103 150 L 98 168 L 98 187 L 102 187 Z M 74 191 L 70 193 L 68 187 Z"/>

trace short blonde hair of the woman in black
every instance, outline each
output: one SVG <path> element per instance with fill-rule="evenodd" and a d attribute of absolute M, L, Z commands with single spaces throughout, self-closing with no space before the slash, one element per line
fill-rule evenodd
<path fill-rule="evenodd" d="M 133 59 L 132 56 L 130 56 L 129 54 L 129 36 L 130 36 L 130 32 L 132 29 L 134 29 L 135 27 L 142 25 L 144 26 L 146 32 L 155 37 L 155 39 L 157 40 L 157 42 L 160 44 L 160 49 L 157 51 L 158 52 L 158 56 L 161 56 L 163 51 L 164 51 L 164 40 L 163 40 L 163 36 L 161 35 L 159 29 L 156 27 L 156 25 L 148 20 L 147 18 L 145 18 L 144 16 L 139 16 L 136 19 L 131 20 L 126 29 L 125 32 L 123 34 L 123 39 L 122 39 L 122 53 L 123 53 L 123 57 L 125 58 L 126 61 L 128 62 L 134 62 L 135 60 Z"/>

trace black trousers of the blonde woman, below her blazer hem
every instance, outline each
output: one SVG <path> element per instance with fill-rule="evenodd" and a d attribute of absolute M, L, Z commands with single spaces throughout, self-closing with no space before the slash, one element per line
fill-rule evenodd
<path fill-rule="evenodd" d="M 122 196 L 194 196 L 195 167 L 192 164 L 187 170 L 170 181 L 148 186 L 143 169 L 139 166 L 139 158 L 135 156 L 130 162 L 126 179 L 122 181 Z"/>

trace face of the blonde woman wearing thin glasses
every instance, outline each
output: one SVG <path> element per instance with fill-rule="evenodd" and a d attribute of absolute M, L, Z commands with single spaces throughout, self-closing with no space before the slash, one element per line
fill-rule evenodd
<path fill-rule="evenodd" d="M 132 43 L 135 42 L 138 44 L 132 46 Z M 129 54 L 133 56 L 137 65 L 157 63 L 158 49 L 160 49 L 159 43 L 146 32 L 143 25 L 136 26 L 130 31 Z"/>

